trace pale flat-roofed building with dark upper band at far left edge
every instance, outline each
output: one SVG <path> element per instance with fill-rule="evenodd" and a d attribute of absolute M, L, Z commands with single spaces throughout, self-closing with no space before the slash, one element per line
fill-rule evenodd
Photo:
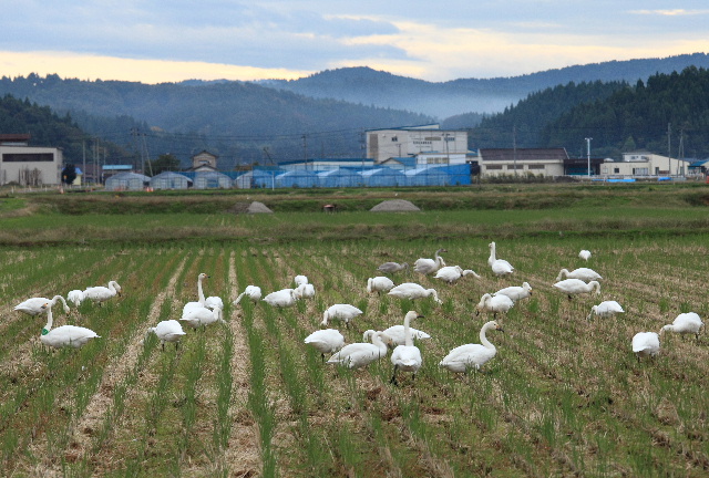
<path fill-rule="evenodd" d="M 55 147 L 29 146 L 30 135 L 0 135 L 0 185 L 59 185 L 64 158 Z"/>

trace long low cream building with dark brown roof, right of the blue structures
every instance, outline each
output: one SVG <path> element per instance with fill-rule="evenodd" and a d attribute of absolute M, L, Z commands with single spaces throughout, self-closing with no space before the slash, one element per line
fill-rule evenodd
<path fill-rule="evenodd" d="M 568 155 L 564 148 L 481 148 L 479 160 L 483 176 L 563 176 Z"/>

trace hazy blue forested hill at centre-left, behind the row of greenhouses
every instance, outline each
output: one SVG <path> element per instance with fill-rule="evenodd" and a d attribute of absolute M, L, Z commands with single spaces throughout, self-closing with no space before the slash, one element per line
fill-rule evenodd
<path fill-rule="evenodd" d="M 134 141 L 126 117 L 144 122 L 151 129 L 143 134 L 151 141 L 164 139 L 164 133 L 155 132 L 172 134 L 160 153 L 171 152 L 184 162 L 208 148 L 225 162 L 222 167 L 263 162 L 265 150 L 276 160 L 302 158 L 307 147 L 310 155 L 317 150 L 323 156 L 361 156 L 363 129 L 432 121 L 417 113 L 315 100 L 242 82 L 148 85 L 30 74 L 2 77 L 0 94 L 69 112 L 89 133 L 111 135 L 123 144 Z M 114 118 L 116 131 L 106 131 L 106 118 Z M 168 144 L 171 149 L 162 149 Z"/>

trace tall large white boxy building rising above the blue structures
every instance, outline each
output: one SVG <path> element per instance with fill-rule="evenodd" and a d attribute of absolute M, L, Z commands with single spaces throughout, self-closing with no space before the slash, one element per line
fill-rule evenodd
<path fill-rule="evenodd" d="M 380 164 L 392 157 L 415 156 L 422 153 L 450 158 L 467 153 L 467 131 L 441 129 L 438 124 L 390 129 L 369 129 L 367 157 Z"/>

